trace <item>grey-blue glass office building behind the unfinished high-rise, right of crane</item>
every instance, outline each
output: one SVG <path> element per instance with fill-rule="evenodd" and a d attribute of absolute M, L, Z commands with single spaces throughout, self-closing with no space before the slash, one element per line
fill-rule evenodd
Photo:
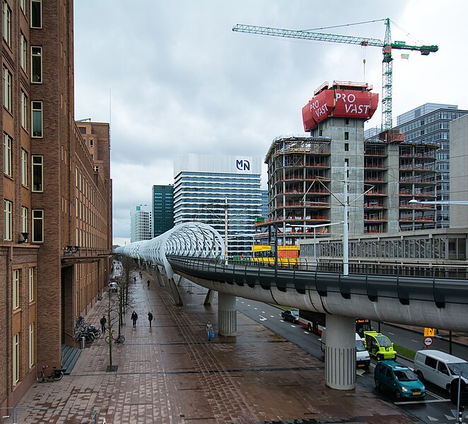
<path fill-rule="evenodd" d="M 397 117 L 395 131 L 404 134 L 405 143 L 439 146 L 435 161 L 435 199 L 450 200 L 450 122 L 468 114 L 457 105 L 426 103 Z M 365 132 L 365 138 L 375 135 L 375 129 Z M 452 150 L 453 151 L 453 150 Z M 450 226 L 449 205 L 431 206 L 435 210 L 435 227 Z"/>

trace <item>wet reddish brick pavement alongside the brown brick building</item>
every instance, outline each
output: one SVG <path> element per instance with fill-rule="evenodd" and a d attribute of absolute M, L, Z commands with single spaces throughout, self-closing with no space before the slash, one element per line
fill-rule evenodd
<path fill-rule="evenodd" d="M 180 291 L 184 307 L 175 306 L 168 288 L 153 276 L 137 276 L 122 331 L 125 343 L 112 349 L 117 372 L 106 372 L 109 351 L 100 338 L 83 350 L 71 375 L 33 384 L 18 406 L 97 411 L 97 422 L 107 424 L 414 422 L 362 387 L 329 389 L 322 361 L 240 312 L 238 336 L 216 334 L 207 341 L 209 319 L 216 331 L 216 303 L 204 307 L 201 292 Z M 106 305 L 107 294 L 86 322 L 98 325 Z M 139 314 L 136 328 L 131 309 Z M 20 411 L 18 418 L 18 423 L 85 422 L 77 414 L 47 418 L 39 410 Z"/>

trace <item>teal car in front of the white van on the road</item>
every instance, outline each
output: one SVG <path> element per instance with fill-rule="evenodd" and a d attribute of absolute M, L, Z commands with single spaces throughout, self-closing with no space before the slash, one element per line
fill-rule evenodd
<path fill-rule="evenodd" d="M 394 360 L 381 360 L 375 365 L 374 382 L 378 390 L 392 391 L 397 400 L 423 399 L 426 396 L 426 387 L 418 376 Z"/>

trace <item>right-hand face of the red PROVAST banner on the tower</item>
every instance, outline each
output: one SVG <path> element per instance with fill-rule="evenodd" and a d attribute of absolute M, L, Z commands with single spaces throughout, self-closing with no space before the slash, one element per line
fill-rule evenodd
<path fill-rule="evenodd" d="M 335 90 L 335 117 L 370 119 L 377 109 L 379 95 L 368 91 Z"/>

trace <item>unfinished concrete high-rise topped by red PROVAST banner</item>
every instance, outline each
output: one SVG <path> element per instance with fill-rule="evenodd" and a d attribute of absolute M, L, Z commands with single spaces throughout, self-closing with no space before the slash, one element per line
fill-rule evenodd
<path fill-rule="evenodd" d="M 267 153 L 270 216 L 259 232 L 275 225 L 279 244 L 294 245 L 339 236 L 343 221 L 350 235 L 434 228 L 433 208 L 409 201 L 435 199 L 437 146 L 403 143 L 396 131 L 365 141 L 364 122 L 377 105 L 367 84 L 315 90 L 303 107 L 310 136 L 278 137 Z"/>

